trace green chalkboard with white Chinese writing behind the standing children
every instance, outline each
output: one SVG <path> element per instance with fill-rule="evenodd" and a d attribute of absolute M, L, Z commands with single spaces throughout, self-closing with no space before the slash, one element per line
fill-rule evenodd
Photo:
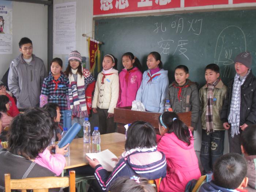
<path fill-rule="evenodd" d="M 117 57 L 119 70 L 123 53 L 132 52 L 145 71 L 148 53 L 157 51 L 170 82 L 174 68 L 183 64 L 189 68 L 189 79 L 203 86 L 204 68 L 216 63 L 227 83 L 235 74 L 236 55 L 247 50 L 256 74 L 256 10 L 95 19 L 94 35 L 103 42 L 102 57 Z"/>

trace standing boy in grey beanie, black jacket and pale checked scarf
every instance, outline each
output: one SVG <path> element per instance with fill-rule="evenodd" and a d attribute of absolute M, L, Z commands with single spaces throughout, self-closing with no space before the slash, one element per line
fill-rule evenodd
<path fill-rule="evenodd" d="M 227 88 L 221 111 L 223 127 L 229 133 L 229 151 L 241 154 L 240 135 L 248 125 L 256 123 L 256 78 L 252 74 L 252 56 L 242 52 L 235 59 L 236 75 Z"/>

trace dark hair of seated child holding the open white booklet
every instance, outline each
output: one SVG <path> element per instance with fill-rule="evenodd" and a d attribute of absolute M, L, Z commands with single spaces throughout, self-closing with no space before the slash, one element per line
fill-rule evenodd
<path fill-rule="evenodd" d="M 133 122 L 127 130 L 127 139 L 125 141 L 125 150 L 136 147 L 147 147 L 151 148 L 156 146 L 155 141 L 155 129 L 154 127 L 145 121 L 135 121 Z"/>

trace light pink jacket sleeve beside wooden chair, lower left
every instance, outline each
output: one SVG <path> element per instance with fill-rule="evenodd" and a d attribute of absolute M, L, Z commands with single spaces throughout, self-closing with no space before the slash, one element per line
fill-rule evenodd
<path fill-rule="evenodd" d="M 60 154 L 51 154 L 48 148 L 43 153 L 39 153 L 35 162 L 51 170 L 56 176 L 59 176 L 66 165 L 66 159 Z"/>

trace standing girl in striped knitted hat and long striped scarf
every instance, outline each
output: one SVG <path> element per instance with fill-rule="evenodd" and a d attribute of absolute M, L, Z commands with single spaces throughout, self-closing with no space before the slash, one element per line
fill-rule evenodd
<path fill-rule="evenodd" d="M 88 69 L 83 69 L 81 54 L 76 50 L 68 55 L 68 67 L 65 74 L 69 79 L 68 96 L 74 117 L 72 124 L 79 123 L 83 127 L 84 117 L 90 114 L 95 79 Z M 83 137 L 83 128 L 77 136 Z"/>

